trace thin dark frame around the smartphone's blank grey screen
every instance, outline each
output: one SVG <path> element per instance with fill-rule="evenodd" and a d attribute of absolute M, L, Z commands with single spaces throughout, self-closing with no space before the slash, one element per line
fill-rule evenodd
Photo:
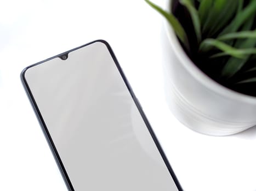
<path fill-rule="evenodd" d="M 180 183 L 179 183 L 177 177 L 176 177 L 175 174 L 174 174 L 174 171 L 173 171 L 172 167 L 170 166 L 170 164 L 169 164 L 169 162 L 168 162 L 168 160 L 167 160 L 166 154 L 164 154 L 163 149 L 162 149 L 162 147 L 161 147 L 159 141 L 157 140 L 156 135 L 155 135 L 155 133 L 153 132 L 153 129 L 151 128 L 150 123 L 149 123 L 149 121 L 147 120 L 147 118 L 146 118 L 146 116 L 145 116 L 145 114 L 144 114 L 144 112 L 143 112 L 143 109 L 141 108 L 141 105 L 140 105 L 138 99 L 136 98 L 136 96 L 135 96 L 135 94 L 134 94 L 134 92 L 133 92 L 133 90 L 132 90 L 132 87 L 130 87 L 129 82 L 128 82 L 128 80 L 126 79 L 126 76 L 124 75 L 124 73 L 123 73 L 123 71 L 122 71 L 122 68 L 120 67 L 120 64 L 119 64 L 118 61 L 117 61 L 117 58 L 116 58 L 115 54 L 113 53 L 113 51 L 112 51 L 112 49 L 111 49 L 111 46 L 109 45 L 109 43 L 107 43 L 107 41 L 101 40 L 101 39 L 100 39 L 100 40 L 94 40 L 94 41 L 92 41 L 92 42 L 90 42 L 90 43 L 84 44 L 84 45 L 82 45 L 82 46 L 78 46 L 78 47 L 76 47 L 75 49 L 71 49 L 71 50 L 69 50 L 69 51 L 60 53 L 59 55 L 56 55 L 56 56 L 50 57 L 50 58 L 48 58 L 48 59 L 45 59 L 44 61 L 41 61 L 41 62 L 32 64 L 32 65 L 30 65 L 29 67 L 26 67 L 24 70 L 22 70 L 21 75 L 20 75 L 22 85 L 23 85 L 24 88 L 25 88 L 27 97 L 29 97 L 30 103 L 31 103 L 31 105 L 32 105 L 32 107 L 33 107 L 33 110 L 35 111 L 36 116 L 37 116 L 37 120 L 39 121 L 39 124 L 40 124 L 40 126 L 41 126 L 41 129 L 43 130 L 44 136 L 45 136 L 45 138 L 47 139 L 47 142 L 48 142 L 48 145 L 49 145 L 49 147 L 50 147 L 50 150 L 51 150 L 52 153 L 53 153 L 53 156 L 54 156 L 55 161 L 56 161 L 56 163 L 57 163 L 57 165 L 58 165 L 58 168 L 59 168 L 59 170 L 60 170 L 60 172 L 61 172 L 61 175 L 62 175 L 62 177 L 64 178 L 64 182 L 65 182 L 67 188 L 68 188 L 70 191 L 75 191 L 75 189 L 73 188 L 72 183 L 71 183 L 71 181 L 70 181 L 69 175 L 67 174 L 67 172 L 66 172 L 66 170 L 65 170 L 65 168 L 64 168 L 64 165 L 63 165 L 63 163 L 61 162 L 61 158 L 60 158 L 60 156 L 59 156 L 58 150 L 56 149 L 56 147 L 55 147 L 55 145 L 54 145 L 53 139 L 51 138 L 50 133 L 49 133 L 49 131 L 48 131 L 48 129 L 47 129 L 47 126 L 46 126 L 45 123 L 44 123 L 44 120 L 43 120 L 43 117 L 42 117 L 42 115 L 41 115 L 41 112 L 39 111 L 38 106 L 37 106 L 37 104 L 36 104 L 36 101 L 35 101 L 35 99 L 33 98 L 33 95 L 32 95 L 32 92 L 31 92 L 31 90 L 30 90 L 30 87 L 29 87 L 29 85 L 28 85 L 28 83 L 27 83 L 27 81 L 26 81 L 26 79 L 25 79 L 25 73 L 26 73 L 26 71 L 27 71 L 29 68 L 34 67 L 35 65 L 42 64 L 42 63 L 44 63 L 44 62 L 49 61 L 50 59 L 54 59 L 54 58 L 57 58 L 57 57 L 61 57 L 61 56 L 63 56 L 63 55 L 67 55 L 68 53 L 70 53 L 70 52 L 72 52 L 72 51 L 81 49 L 81 48 L 84 47 L 84 46 L 88 46 L 88 45 L 93 44 L 93 43 L 96 43 L 96 42 L 100 42 L 100 43 L 105 44 L 106 47 L 107 47 L 107 50 L 109 50 L 110 55 L 111 55 L 113 61 L 115 62 L 116 67 L 117 67 L 119 73 L 121 74 L 124 83 L 126 84 L 126 87 L 128 88 L 128 91 L 129 91 L 129 93 L 130 93 L 130 96 L 132 96 L 133 101 L 134 101 L 134 103 L 135 103 L 135 105 L 136 105 L 136 108 L 139 110 L 140 115 L 141 115 L 141 117 L 143 118 L 143 121 L 144 121 L 144 123 L 146 124 L 146 127 L 147 127 L 147 129 L 149 130 L 150 135 L 151 135 L 153 141 L 155 142 L 158 151 L 159 151 L 160 154 L 161 154 L 161 157 L 162 157 L 162 159 L 163 159 L 163 161 L 164 161 L 164 164 L 166 164 L 166 167 L 167 167 L 167 169 L 168 169 L 170 175 L 172 176 L 172 178 L 173 178 L 173 180 L 174 180 L 174 183 L 176 184 L 178 190 L 179 190 L 179 191 L 183 191 L 183 189 L 181 188 Z M 69 58 L 67 58 L 67 59 L 69 59 Z"/>

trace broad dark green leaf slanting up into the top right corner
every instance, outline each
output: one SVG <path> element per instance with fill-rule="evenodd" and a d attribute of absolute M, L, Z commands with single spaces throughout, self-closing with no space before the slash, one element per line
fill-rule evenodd
<path fill-rule="evenodd" d="M 224 30 L 219 34 L 224 35 L 227 33 L 235 32 L 238 28 L 242 26 L 244 21 L 248 20 L 251 16 L 254 15 L 256 11 L 256 1 L 251 1 L 246 8 L 244 8 L 240 13 L 238 13 L 235 17 L 235 19 L 232 20 L 232 22 L 224 28 Z"/>

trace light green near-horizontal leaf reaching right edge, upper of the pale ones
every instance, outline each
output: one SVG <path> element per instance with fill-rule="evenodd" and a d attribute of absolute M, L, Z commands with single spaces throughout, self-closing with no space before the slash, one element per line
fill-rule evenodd
<path fill-rule="evenodd" d="M 256 30 L 254 31 L 240 31 L 234 33 L 224 34 L 218 37 L 218 40 L 230 40 L 230 39 L 241 39 L 241 38 L 256 38 Z"/>

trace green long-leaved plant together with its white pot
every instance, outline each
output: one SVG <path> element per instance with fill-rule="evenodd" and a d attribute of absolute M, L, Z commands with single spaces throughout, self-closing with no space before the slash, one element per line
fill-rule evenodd
<path fill-rule="evenodd" d="M 169 0 L 167 100 L 197 132 L 230 135 L 256 124 L 256 1 Z"/>

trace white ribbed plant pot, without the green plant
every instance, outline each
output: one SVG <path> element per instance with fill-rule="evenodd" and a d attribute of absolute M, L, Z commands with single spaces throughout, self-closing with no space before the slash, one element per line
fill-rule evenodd
<path fill-rule="evenodd" d="M 167 1 L 167 9 L 172 1 Z M 256 97 L 219 85 L 187 57 L 165 22 L 164 81 L 170 110 L 185 126 L 208 135 L 231 135 L 256 124 Z M 206 63 L 207 64 L 207 63 Z"/>

